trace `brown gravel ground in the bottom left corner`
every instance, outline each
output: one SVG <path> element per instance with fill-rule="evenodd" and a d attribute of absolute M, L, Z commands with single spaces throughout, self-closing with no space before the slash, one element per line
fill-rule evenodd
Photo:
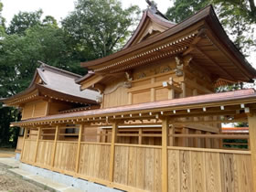
<path fill-rule="evenodd" d="M 41 192 L 44 188 L 37 187 L 34 184 L 22 179 L 21 176 L 16 176 L 7 171 L 6 165 L 0 164 L 0 192 Z"/>

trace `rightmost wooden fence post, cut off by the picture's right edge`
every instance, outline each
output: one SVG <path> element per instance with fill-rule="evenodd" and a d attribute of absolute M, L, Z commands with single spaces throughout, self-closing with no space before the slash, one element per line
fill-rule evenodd
<path fill-rule="evenodd" d="M 256 191 L 256 114 L 248 116 L 253 189 Z"/>

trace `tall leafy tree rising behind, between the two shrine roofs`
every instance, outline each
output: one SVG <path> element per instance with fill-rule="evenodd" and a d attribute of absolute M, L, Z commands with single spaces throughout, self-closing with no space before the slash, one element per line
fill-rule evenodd
<path fill-rule="evenodd" d="M 62 26 L 81 60 L 98 59 L 122 48 L 138 14 L 137 6 L 123 10 L 118 0 L 78 0 Z"/>

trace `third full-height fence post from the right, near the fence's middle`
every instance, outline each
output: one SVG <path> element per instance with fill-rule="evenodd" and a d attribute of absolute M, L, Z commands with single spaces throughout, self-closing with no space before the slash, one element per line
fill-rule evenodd
<path fill-rule="evenodd" d="M 114 143 L 116 142 L 116 133 L 118 132 L 118 125 L 116 122 L 112 123 L 112 145 L 111 145 L 111 159 L 110 159 L 110 181 L 113 181 L 114 168 Z"/>

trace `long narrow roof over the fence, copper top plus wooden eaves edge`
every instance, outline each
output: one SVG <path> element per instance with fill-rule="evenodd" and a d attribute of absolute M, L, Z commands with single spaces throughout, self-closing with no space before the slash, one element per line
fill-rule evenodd
<path fill-rule="evenodd" d="M 254 89 L 240 90 L 240 91 L 228 91 L 219 92 L 206 95 L 198 95 L 187 98 L 166 100 L 166 101 L 152 101 L 139 104 L 131 104 L 119 107 L 112 107 L 106 109 L 88 110 L 85 112 L 69 112 L 64 114 L 50 115 L 47 117 L 40 117 L 29 119 L 26 121 L 12 123 L 37 123 L 37 122 L 51 122 L 51 121 L 64 121 L 64 120 L 77 120 L 84 118 L 96 118 L 96 117 L 112 117 L 113 115 L 121 114 L 138 114 L 144 112 L 170 112 L 173 110 L 187 110 L 197 108 L 210 108 L 217 105 L 229 105 L 229 102 L 234 104 L 243 103 L 244 101 L 256 101 L 256 92 Z M 201 110 L 202 111 L 202 110 Z M 203 112 L 203 111 L 202 111 Z"/>

